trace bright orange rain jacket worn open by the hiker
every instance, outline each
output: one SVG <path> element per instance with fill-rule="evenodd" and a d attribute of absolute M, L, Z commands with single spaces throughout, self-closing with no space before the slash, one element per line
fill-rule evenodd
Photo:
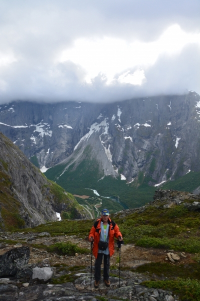
<path fill-rule="evenodd" d="M 93 255 L 95 258 L 97 258 L 98 255 L 98 242 L 100 240 L 100 222 L 101 222 L 101 218 L 97 219 L 97 221 L 93 224 L 90 232 L 89 232 L 89 236 L 88 239 L 92 236 L 94 241 L 93 241 Z M 111 221 L 110 218 L 108 218 L 108 224 L 109 224 L 109 230 L 108 230 L 108 237 L 109 237 L 109 241 L 108 241 L 108 250 L 109 250 L 109 255 L 112 256 L 114 254 L 114 237 L 116 237 L 118 239 L 118 236 L 122 236 L 121 232 L 119 231 L 119 227 L 117 226 L 117 224 L 115 224 L 115 222 Z"/>

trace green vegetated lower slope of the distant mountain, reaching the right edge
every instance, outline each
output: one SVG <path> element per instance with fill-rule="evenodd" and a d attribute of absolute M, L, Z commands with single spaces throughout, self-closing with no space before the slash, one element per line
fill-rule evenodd
<path fill-rule="evenodd" d="M 120 180 L 119 176 L 117 178 L 107 176 L 99 180 L 103 177 L 102 171 L 98 162 L 90 158 L 91 149 L 89 146 L 85 148 L 85 152 L 87 156 L 78 166 L 75 167 L 72 164 L 62 174 L 65 166 L 57 165 L 47 170 L 45 173 L 46 177 L 56 181 L 57 184 L 71 194 L 89 195 L 92 197 L 94 196 L 93 192 L 89 189 L 95 189 L 100 196 L 118 198 L 121 204 L 128 208 L 140 207 L 152 201 L 154 192 L 158 189 L 158 187 L 148 185 L 149 182 L 156 184 L 153 179 L 145 177 L 142 172 L 139 172 L 137 179 L 130 184 Z M 151 169 L 153 170 L 154 167 L 155 160 L 153 159 L 151 161 Z M 59 177 L 61 174 L 62 176 Z M 162 184 L 159 188 L 192 192 L 199 186 L 200 172 L 189 172 L 175 181 Z M 124 208 L 126 208 L 125 206 Z"/>

